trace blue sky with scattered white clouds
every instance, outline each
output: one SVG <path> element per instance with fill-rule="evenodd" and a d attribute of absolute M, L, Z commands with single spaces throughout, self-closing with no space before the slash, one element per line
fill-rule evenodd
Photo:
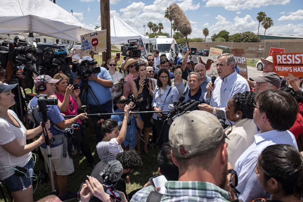
<path fill-rule="evenodd" d="M 111 16 L 116 14 L 144 34 L 147 23 L 162 23 L 170 33 L 170 21 L 164 18 L 165 9 L 177 3 L 191 22 L 189 38 L 201 37 L 203 28 L 210 35 L 226 30 L 231 34 L 244 31 L 257 33 L 257 13 L 263 11 L 274 21 L 266 34 L 303 35 L 303 0 L 110 0 Z M 56 0 L 56 4 L 71 13 L 88 27 L 100 25 L 100 0 Z M 143 25 L 146 25 L 145 32 Z M 260 25 L 260 33 L 264 29 Z"/>

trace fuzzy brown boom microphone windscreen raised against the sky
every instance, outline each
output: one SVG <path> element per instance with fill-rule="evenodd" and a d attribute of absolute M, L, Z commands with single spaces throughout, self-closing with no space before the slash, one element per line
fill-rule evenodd
<path fill-rule="evenodd" d="M 170 16 L 173 18 L 175 26 L 180 31 L 182 36 L 187 37 L 189 34 L 192 33 L 192 27 L 189 20 L 177 4 L 171 4 L 168 7 L 168 11 Z"/>

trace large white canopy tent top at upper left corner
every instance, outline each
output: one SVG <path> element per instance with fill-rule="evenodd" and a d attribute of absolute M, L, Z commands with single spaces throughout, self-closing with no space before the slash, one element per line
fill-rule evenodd
<path fill-rule="evenodd" d="M 0 1 L 0 34 L 28 32 L 81 41 L 80 35 L 91 31 L 49 0 Z"/>

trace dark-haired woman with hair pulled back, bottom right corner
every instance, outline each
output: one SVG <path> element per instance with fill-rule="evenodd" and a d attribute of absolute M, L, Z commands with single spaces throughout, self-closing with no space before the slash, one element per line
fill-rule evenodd
<path fill-rule="evenodd" d="M 259 185 L 270 199 L 257 201 L 299 202 L 303 195 L 303 158 L 291 145 L 276 144 L 266 147 L 255 168 Z"/>

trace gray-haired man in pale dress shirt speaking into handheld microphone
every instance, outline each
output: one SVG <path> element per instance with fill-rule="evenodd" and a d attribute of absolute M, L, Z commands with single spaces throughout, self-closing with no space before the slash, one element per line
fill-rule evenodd
<path fill-rule="evenodd" d="M 228 100 L 239 92 L 249 91 L 249 85 L 245 78 L 234 70 L 235 58 L 230 53 L 224 53 L 217 57 L 217 72 L 219 77 L 214 82 L 208 83 L 204 101 L 206 104 L 198 105 L 200 110 L 217 114 L 219 110 L 225 111 Z"/>

